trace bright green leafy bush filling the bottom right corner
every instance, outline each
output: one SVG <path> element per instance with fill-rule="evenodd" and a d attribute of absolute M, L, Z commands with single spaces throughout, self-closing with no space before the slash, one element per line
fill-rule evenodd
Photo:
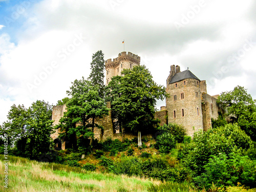
<path fill-rule="evenodd" d="M 208 189 L 212 183 L 220 187 L 223 185 L 235 186 L 238 182 L 249 187 L 256 187 L 256 161 L 247 156 L 231 153 L 211 156 L 204 165 L 204 173 L 195 178 L 195 183 Z"/>

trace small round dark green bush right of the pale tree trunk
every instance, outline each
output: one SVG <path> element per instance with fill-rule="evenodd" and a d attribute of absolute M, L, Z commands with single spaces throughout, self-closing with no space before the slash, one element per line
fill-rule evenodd
<path fill-rule="evenodd" d="M 157 136 L 157 142 L 155 148 L 159 150 L 160 153 L 170 153 L 176 146 L 175 137 L 170 133 L 163 133 Z"/>

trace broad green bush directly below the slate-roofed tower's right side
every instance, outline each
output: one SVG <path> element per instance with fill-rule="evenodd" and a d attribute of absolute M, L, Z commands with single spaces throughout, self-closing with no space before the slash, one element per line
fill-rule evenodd
<path fill-rule="evenodd" d="M 184 153 L 179 152 L 179 158 L 183 157 L 183 163 L 190 167 L 195 176 L 204 172 L 204 165 L 211 155 L 226 154 L 227 156 L 237 148 L 245 150 L 251 145 L 250 138 L 236 124 L 227 124 L 207 132 L 195 133 L 193 142 Z M 187 150 L 187 152 L 186 152 Z"/>

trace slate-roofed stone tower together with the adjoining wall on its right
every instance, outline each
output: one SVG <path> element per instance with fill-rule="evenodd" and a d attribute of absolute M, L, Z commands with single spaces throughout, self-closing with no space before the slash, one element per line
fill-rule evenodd
<path fill-rule="evenodd" d="M 200 80 L 188 69 L 170 66 L 166 80 L 168 122 L 182 124 L 189 136 L 211 127 L 211 118 L 218 117 L 217 98 L 207 94 L 206 81 Z"/>

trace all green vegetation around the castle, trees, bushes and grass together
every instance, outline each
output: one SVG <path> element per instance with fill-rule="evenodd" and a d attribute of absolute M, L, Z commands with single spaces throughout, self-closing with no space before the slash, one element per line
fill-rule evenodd
<path fill-rule="evenodd" d="M 0 126 L 9 140 L 10 190 L 256 191 L 256 105 L 243 87 L 222 93 L 218 104 L 227 113 L 212 119 L 212 129 L 197 132 L 192 139 L 183 126 L 158 125 L 156 100 L 167 95 L 145 66 L 124 69 L 124 76 L 113 77 L 106 90 L 101 51 L 93 55 L 91 69 L 87 80 L 72 82 L 67 91 L 71 98 L 58 101 L 68 109 L 55 126 L 63 131 L 59 138 L 66 141 L 64 151 L 53 150 L 49 103 L 11 107 L 9 120 Z M 120 133 L 125 128 L 138 138 L 94 139 L 94 127 L 104 129 L 95 119 L 109 114 L 106 101 L 111 102 Z M 143 138 L 141 133 L 154 137 Z M 3 153 L 2 138 L 0 143 Z M 4 157 L 0 159 L 3 172 Z"/>

